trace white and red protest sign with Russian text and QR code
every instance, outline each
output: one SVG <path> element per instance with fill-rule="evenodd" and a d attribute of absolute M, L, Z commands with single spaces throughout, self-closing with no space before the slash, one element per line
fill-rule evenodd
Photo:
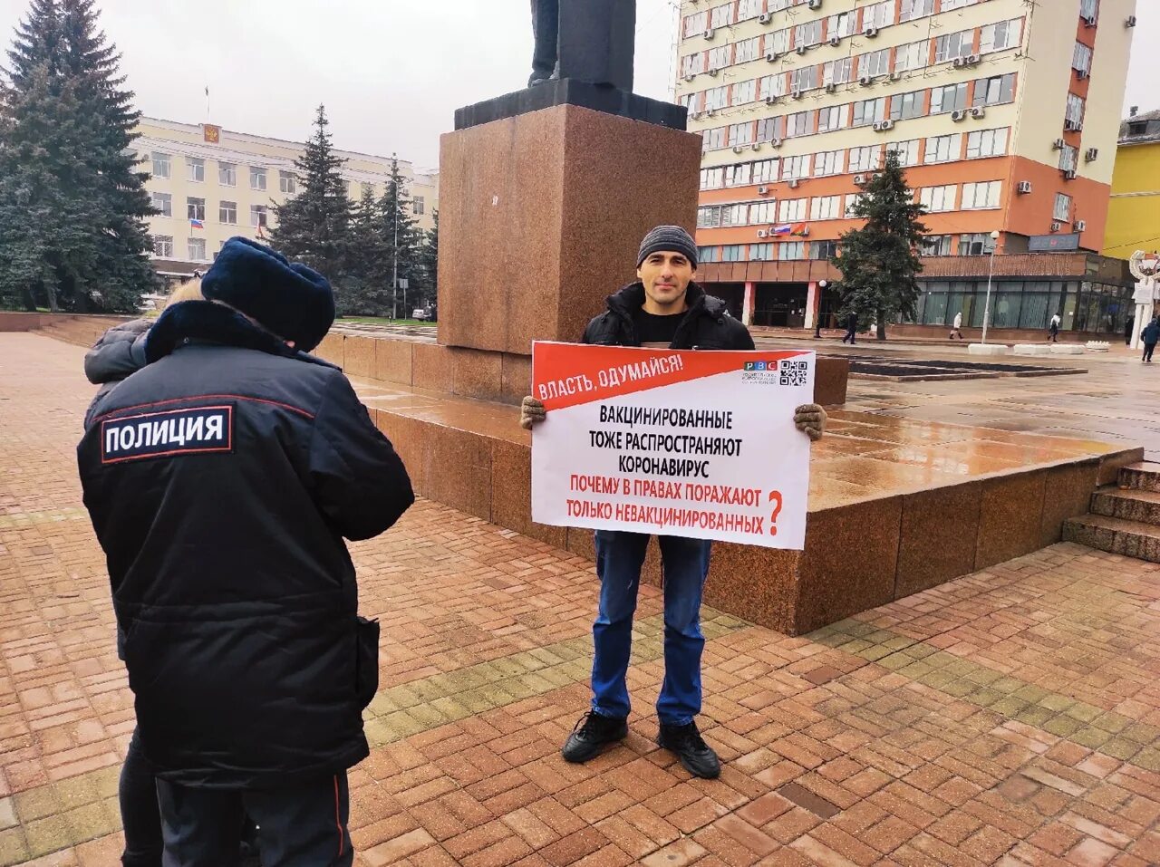
<path fill-rule="evenodd" d="M 814 358 L 535 343 L 532 520 L 803 548 Z"/>

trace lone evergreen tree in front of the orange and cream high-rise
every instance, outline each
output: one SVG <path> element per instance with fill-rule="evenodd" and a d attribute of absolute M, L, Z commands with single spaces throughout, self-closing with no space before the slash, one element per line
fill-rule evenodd
<path fill-rule="evenodd" d="M 887 321 L 898 314 L 914 316 L 915 276 L 922 271 L 918 248 L 927 231 L 919 221 L 925 210 L 906 185 L 897 153 L 886 152 L 886 165 L 863 188 L 853 213 L 865 225 L 843 234 L 831 260 L 842 272 L 840 315 L 855 313 L 862 322 L 872 320 L 878 340 L 886 340 Z"/>

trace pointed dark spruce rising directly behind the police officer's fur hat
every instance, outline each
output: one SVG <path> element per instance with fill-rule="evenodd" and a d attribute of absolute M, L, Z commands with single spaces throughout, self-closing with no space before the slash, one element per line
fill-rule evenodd
<path fill-rule="evenodd" d="M 341 284 L 350 243 L 350 199 L 341 174 L 346 160 L 334 155 L 327 126 L 326 107 L 319 105 L 314 134 L 295 161 L 299 192 L 275 205 L 277 226 L 270 245 Z"/>

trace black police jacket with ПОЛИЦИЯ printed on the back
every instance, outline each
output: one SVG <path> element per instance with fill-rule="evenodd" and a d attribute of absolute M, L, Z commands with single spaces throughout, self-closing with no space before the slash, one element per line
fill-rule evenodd
<path fill-rule="evenodd" d="M 342 537 L 394 524 L 407 472 L 340 370 L 226 307 L 174 305 L 146 352 L 78 446 L 145 758 L 198 787 L 350 767 L 378 627 Z"/>

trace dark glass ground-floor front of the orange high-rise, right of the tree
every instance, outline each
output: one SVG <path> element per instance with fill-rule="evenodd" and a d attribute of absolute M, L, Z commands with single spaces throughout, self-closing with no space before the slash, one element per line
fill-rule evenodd
<path fill-rule="evenodd" d="M 921 280 L 915 321 L 949 326 L 957 313 L 972 328 L 983 327 L 987 284 L 976 280 Z M 991 287 L 991 327 L 1046 329 L 1056 313 L 1066 332 L 1124 333 L 1132 315 L 1126 286 L 1088 280 L 995 280 Z"/>

